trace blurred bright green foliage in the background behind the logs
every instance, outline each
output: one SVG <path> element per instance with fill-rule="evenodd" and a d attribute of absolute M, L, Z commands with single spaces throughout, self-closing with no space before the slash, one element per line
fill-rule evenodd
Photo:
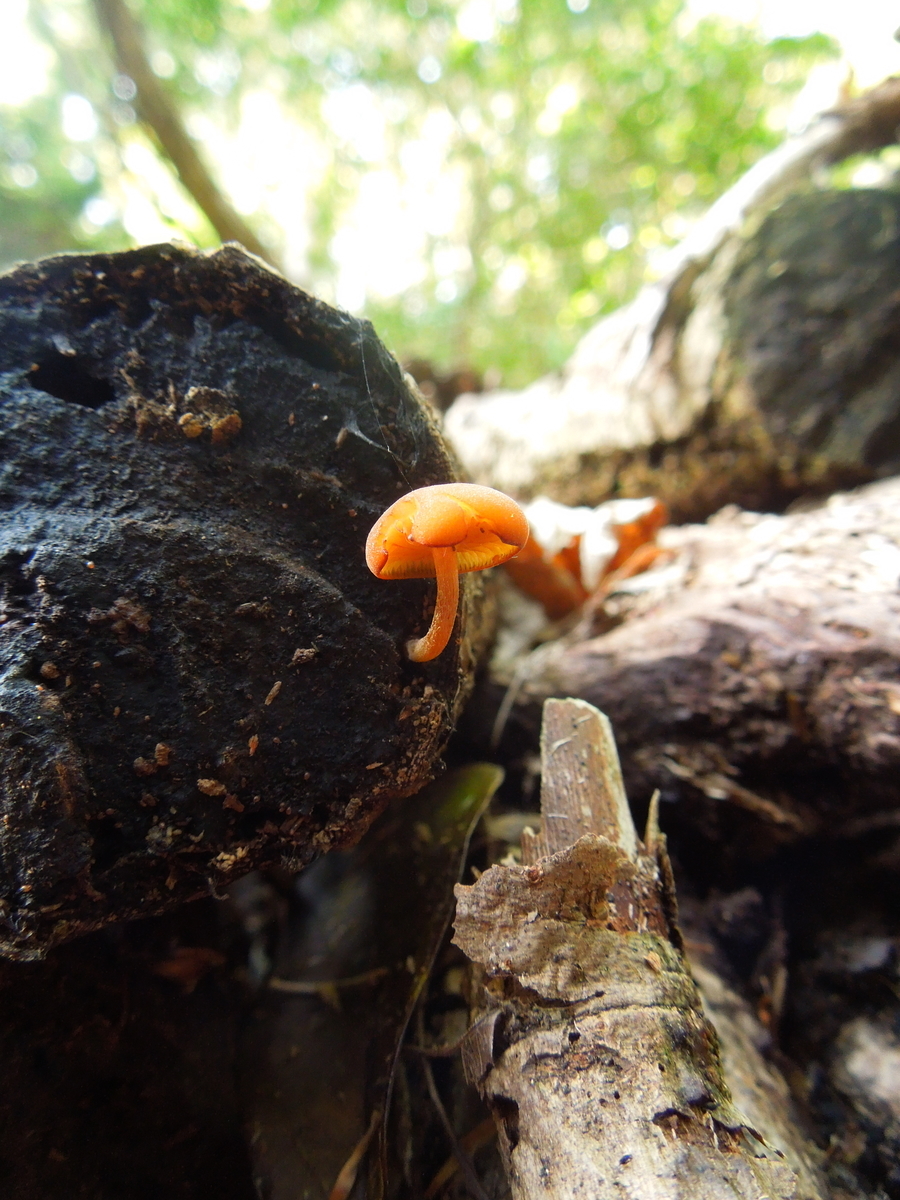
<path fill-rule="evenodd" d="M 431 146 L 439 175 L 420 200 L 421 229 L 410 217 L 418 270 L 402 288 L 358 270 L 365 292 L 358 282 L 349 300 L 398 355 L 493 368 L 515 385 L 562 364 L 634 294 L 690 218 L 780 140 L 778 113 L 834 53 L 821 36 L 763 42 L 721 20 L 691 23 L 680 0 L 132 7 L 188 128 L 224 140 L 264 94 L 316 146 L 308 172 L 293 163 L 304 184 L 290 220 L 302 230 L 283 206 L 250 220 L 276 252 L 292 236 L 304 244 L 299 266 L 288 256 L 292 274 L 326 299 L 348 301 L 341 278 L 365 257 L 342 230 L 359 224 L 366 188 L 377 179 L 392 194 L 392 179 L 397 196 L 415 192 L 436 169 Z M 128 245 L 136 196 L 173 233 L 214 244 L 185 197 L 167 208 L 130 157 L 143 139 L 146 158 L 152 139 L 89 0 L 31 0 L 30 19 L 55 66 L 46 94 L 0 107 L 0 260 Z M 202 142 L 216 173 L 218 144 Z"/>

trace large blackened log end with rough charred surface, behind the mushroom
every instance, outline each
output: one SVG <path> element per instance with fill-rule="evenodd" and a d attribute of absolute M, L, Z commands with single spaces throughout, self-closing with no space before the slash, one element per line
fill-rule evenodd
<path fill-rule="evenodd" d="M 452 478 L 366 322 L 240 247 L 0 277 L 0 950 L 301 866 L 433 774 L 479 638 L 368 528 Z"/>

